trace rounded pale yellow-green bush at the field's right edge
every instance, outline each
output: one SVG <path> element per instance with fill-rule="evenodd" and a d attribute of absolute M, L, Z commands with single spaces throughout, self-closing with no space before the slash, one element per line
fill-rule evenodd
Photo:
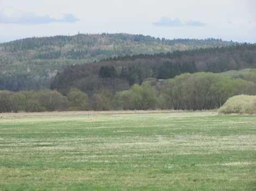
<path fill-rule="evenodd" d="M 256 96 L 238 95 L 230 97 L 218 109 L 220 114 L 256 114 Z"/>

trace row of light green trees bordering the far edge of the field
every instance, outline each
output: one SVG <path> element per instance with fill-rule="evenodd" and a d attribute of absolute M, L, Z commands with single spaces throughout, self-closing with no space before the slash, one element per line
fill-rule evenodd
<path fill-rule="evenodd" d="M 254 76 L 254 79 L 256 76 Z M 185 73 L 167 80 L 148 78 L 126 90 L 108 88 L 92 95 L 71 88 L 63 95 L 56 90 L 0 91 L 0 112 L 55 110 L 147 110 L 216 109 L 229 97 L 256 95 L 256 84 L 214 73 Z"/>

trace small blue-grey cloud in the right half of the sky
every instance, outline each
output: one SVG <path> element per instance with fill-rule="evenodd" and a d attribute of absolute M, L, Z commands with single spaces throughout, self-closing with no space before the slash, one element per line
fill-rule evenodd
<path fill-rule="evenodd" d="M 157 27 L 203 27 L 206 24 L 201 21 L 181 21 L 179 18 L 168 18 L 168 17 L 161 17 L 158 22 L 154 22 L 153 25 Z"/>

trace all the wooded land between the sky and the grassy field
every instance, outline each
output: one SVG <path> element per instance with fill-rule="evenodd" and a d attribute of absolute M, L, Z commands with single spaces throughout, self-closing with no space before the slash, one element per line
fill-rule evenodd
<path fill-rule="evenodd" d="M 216 109 L 256 94 L 256 44 L 221 39 L 28 38 L 0 44 L 0 67 L 0 113 Z"/>

